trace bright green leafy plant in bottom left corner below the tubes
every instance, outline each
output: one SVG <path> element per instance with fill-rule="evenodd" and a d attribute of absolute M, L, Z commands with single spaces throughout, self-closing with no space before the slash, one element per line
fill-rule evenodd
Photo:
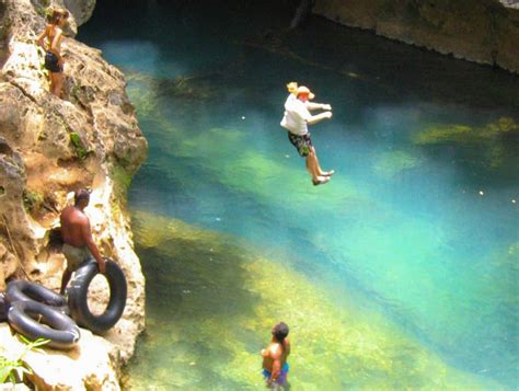
<path fill-rule="evenodd" d="M 39 347 L 48 343 L 48 340 L 45 338 L 30 341 L 23 335 L 18 334 L 18 336 L 25 346 L 15 355 L 15 357 L 8 357 L 0 354 L 0 383 L 22 382 L 24 375 L 32 373 L 31 368 L 23 361 L 25 355 L 30 350 L 43 352 Z"/>

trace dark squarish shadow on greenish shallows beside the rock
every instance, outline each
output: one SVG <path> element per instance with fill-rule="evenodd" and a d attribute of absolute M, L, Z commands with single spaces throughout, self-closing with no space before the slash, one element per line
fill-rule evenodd
<path fill-rule="evenodd" d="M 192 319 L 214 317 L 227 321 L 252 315 L 250 311 L 258 298 L 242 288 L 247 276 L 240 267 L 245 261 L 239 249 L 210 249 L 210 242 L 182 238 L 169 239 L 157 248 L 137 246 L 149 281 L 149 306 L 172 317 L 181 308 Z"/>

